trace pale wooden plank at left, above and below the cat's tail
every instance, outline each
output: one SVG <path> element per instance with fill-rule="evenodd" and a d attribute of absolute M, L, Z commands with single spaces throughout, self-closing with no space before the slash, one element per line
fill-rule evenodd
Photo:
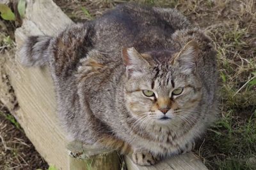
<path fill-rule="evenodd" d="M 26 19 L 15 32 L 17 49 L 27 36 L 54 35 L 72 23 L 52 1 L 27 2 Z M 26 68 L 13 60 L 6 67 L 20 106 L 15 117 L 26 136 L 49 164 L 54 164 L 58 169 L 68 169 L 67 142 L 56 117 L 56 99 L 49 69 Z"/>

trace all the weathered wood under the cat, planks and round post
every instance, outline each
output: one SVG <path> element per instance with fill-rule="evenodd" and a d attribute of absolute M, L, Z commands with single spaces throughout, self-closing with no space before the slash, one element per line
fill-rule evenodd
<path fill-rule="evenodd" d="M 27 2 L 26 20 L 22 27 L 15 32 L 17 49 L 20 48 L 27 36 L 39 34 L 54 36 L 67 24 L 72 23 L 51 0 L 29 0 Z M 19 53 L 16 58 L 19 58 Z M 118 168 L 113 166 L 113 162 L 118 160 L 116 152 L 103 152 L 87 159 L 68 158 L 65 134 L 61 131 L 56 117 L 54 87 L 48 67 L 23 67 L 20 66 L 19 60 L 13 60 L 10 57 L 6 62 L 5 69 L 9 72 L 10 82 L 20 106 L 15 112 L 15 117 L 35 145 L 36 150 L 49 164 L 54 164 L 58 169 L 86 169 L 88 166 L 102 169 L 92 161 L 92 157 L 97 157 L 97 162 L 109 164 L 112 166 L 111 169 Z M 85 148 L 77 150 L 77 153 L 84 154 L 83 150 L 86 150 L 86 154 L 88 154 L 92 149 L 89 146 Z M 74 152 L 71 148 L 69 149 L 70 152 Z M 100 157 L 100 155 L 104 156 Z M 68 160 L 69 165 L 67 164 Z M 206 169 L 193 153 L 170 158 L 154 167 L 137 166 L 129 157 L 126 157 L 125 160 L 128 169 Z"/>

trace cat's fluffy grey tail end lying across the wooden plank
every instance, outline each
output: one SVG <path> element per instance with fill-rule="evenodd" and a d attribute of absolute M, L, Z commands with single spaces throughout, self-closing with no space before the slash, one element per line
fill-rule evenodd
<path fill-rule="evenodd" d="M 44 66 L 49 60 L 50 36 L 29 36 L 20 49 L 20 63 L 24 66 Z"/>

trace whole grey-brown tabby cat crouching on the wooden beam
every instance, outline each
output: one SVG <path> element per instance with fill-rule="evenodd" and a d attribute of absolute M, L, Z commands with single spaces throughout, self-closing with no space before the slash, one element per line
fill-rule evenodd
<path fill-rule="evenodd" d="M 30 36 L 24 66 L 49 65 L 70 140 L 141 166 L 189 152 L 218 113 L 216 51 L 177 10 L 120 4 L 56 37 Z"/>

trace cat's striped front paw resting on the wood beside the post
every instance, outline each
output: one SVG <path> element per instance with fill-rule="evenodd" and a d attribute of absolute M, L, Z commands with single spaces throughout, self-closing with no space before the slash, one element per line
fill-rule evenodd
<path fill-rule="evenodd" d="M 132 153 L 132 161 L 140 166 L 152 166 L 159 162 L 159 157 L 154 157 L 148 152 L 134 152 Z"/>

